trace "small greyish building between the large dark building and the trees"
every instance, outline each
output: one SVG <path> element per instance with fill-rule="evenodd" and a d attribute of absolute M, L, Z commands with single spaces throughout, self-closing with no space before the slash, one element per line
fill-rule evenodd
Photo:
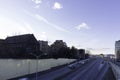
<path fill-rule="evenodd" d="M 44 54 L 48 54 L 49 45 L 48 41 L 38 41 L 40 45 L 40 51 L 42 51 Z"/>

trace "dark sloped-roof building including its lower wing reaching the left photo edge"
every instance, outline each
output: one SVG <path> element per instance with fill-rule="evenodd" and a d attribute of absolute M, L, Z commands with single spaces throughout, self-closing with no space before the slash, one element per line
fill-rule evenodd
<path fill-rule="evenodd" d="M 40 46 L 33 34 L 7 37 L 0 40 L 0 46 L 0 55 L 5 58 L 28 58 L 31 53 L 40 55 Z"/>

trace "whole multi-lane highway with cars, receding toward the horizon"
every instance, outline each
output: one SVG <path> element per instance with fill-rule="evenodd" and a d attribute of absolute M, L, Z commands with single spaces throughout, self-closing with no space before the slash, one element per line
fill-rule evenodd
<path fill-rule="evenodd" d="M 38 75 L 37 80 L 103 80 L 109 67 L 108 62 L 102 58 L 91 58 L 77 61 L 44 75 Z M 18 80 L 36 80 L 36 77 Z"/>

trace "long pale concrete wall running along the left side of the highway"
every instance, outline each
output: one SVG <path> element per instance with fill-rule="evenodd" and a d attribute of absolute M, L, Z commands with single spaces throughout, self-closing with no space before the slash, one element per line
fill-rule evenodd
<path fill-rule="evenodd" d="M 38 61 L 38 71 L 47 70 L 51 67 L 70 63 L 74 59 L 42 59 Z M 36 60 L 0 60 L 0 80 L 6 80 L 36 72 Z"/>

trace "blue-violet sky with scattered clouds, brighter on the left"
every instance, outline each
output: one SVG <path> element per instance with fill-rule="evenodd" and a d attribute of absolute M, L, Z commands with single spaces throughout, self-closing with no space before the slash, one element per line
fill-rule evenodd
<path fill-rule="evenodd" d="M 119 0 L 0 0 L 0 39 L 34 34 L 93 54 L 114 54 L 120 40 Z"/>

